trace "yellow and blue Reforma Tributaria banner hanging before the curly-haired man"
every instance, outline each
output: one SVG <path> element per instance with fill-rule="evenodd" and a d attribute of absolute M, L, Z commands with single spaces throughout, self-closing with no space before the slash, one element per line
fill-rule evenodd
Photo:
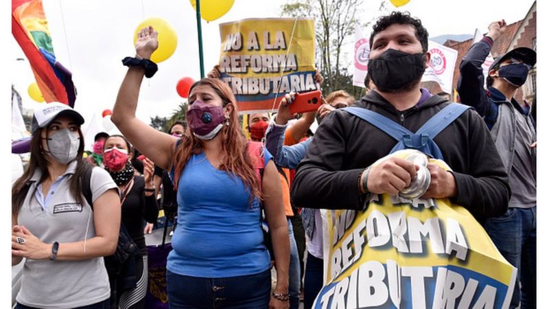
<path fill-rule="evenodd" d="M 324 286 L 313 308 L 509 308 L 516 268 L 467 209 L 388 194 L 366 204 L 322 211 Z"/>

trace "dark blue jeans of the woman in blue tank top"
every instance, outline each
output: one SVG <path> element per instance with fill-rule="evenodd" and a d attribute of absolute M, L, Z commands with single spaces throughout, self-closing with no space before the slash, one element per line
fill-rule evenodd
<path fill-rule="evenodd" d="M 255 275 L 200 278 L 166 271 L 170 309 L 265 309 L 270 300 L 270 269 Z"/>

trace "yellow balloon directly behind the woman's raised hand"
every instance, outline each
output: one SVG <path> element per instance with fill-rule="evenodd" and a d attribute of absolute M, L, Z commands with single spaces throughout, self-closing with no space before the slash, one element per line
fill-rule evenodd
<path fill-rule="evenodd" d="M 137 42 L 137 34 L 139 31 L 150 25 L 159 33 L 159 48 L 152 53 L 150 60 L 159 63 L 170 58 L 174 54 L 177 47 L 177 34 L 172 25 L 167 23 L 167 21 L 159 17 L 151 17 L 142 21 L 135 29 L 133 35 L 134 44 Z"/>

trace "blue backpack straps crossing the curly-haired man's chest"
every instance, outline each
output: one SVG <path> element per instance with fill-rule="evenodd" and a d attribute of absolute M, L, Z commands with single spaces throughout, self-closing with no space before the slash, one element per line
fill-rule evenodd
<path fill-rule="evenodd" d="M 401 126 L 397 122 L 394 122 L 393 120 L 366 108 L 346 107 L 341 109 L 347 111 L 347 113 L 351 113 L 352 115 L 359 117 L 366 122 L 369 122 L 373 126 L 379 128 L 379 130 L 382 130 L 393 137 L 393 139 L 396 139 L 397 144 L 390 150 L 389 153 L 393 153 L 397 150 L 413 148 L 425 153 L 426 155 L 430 155 L 434 159 L 443 160 L 444 157 L 442 152 L 439 146 L 436 146 L 433 139 L 469 108 L 471 108 L 471 106 L 459 103 L 449 104 L 425 122 L 425 124 L 423 124 L 423 126 L 421 126 L 416 133 L 404 128 L 404 126 Z"/>

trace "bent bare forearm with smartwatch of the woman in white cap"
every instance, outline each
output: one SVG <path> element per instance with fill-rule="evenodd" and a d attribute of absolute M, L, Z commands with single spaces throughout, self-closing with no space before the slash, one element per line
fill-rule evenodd
<path fill-rule="evenodd" d="M 120 198 L 114 189 L 107 190 L 93 202 L 95 237 L 80 242 L 59 244 L 56 260 L 75 261 L 112 255 L 118 243 L 120 229 Z M 82 227 L 85 229 L 85 227 Z M 14 242 L 16 237 L 25 238 L 25 243 Z M 32 260 L 47 260 L 53 244 L 46 244 L 26 227 L 14 225 L 12 229 L 12 256 Z M 14 258 L 12 258 L 12 261 Z"/>

